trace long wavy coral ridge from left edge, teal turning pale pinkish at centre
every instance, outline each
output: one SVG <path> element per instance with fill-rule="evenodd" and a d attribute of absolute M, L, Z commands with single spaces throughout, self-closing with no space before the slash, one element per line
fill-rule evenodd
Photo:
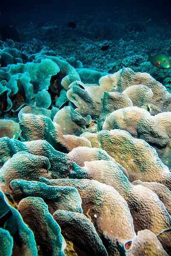
<path fill-rule="evenodd" d="M 107 153 L 99 148 L 78 147 L 73 148 L 68 154 L 56 151 L 46 140 L 35 140 L 31 142 L 20 142 L 18 140 L 10 140 L 7 137 L 0 139 L 0 166 L 3 166 L 8 159 L 20 151 L 25 151 L 29 154 L 47 157 L 50 163 L 49 172 L 53 178 L 68 177 L 72 169 L 72 163 L 84 165 L 84 161 L 93 160 L 110 160 L 116 161 L 107 155 Z M 128 177 L 127 171 L 118 163 L 116 165 Z"/>

